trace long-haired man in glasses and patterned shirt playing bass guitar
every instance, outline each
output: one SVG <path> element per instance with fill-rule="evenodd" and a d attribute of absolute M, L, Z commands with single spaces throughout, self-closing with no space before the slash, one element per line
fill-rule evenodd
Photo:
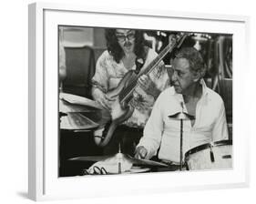
<path fill-rule="evenodd" d="M 142 71 L 158 54 L 146 46 L 142 31 L 106 29 L 105 36 L 108 50 L 97 60 L 96 73 L 92 78 L 92 96 L 103 107 L 114 111 L 111 110 L 114 99 L 108 97 L 108 91 L 118 87 L 129 70 L 139 72 L 140 68 Z M 155 99 L 169 86 L 168 80 L 162 61 L 149 75 L 139 77 L 139 86 L 133 91 L 133 98 L 129 102 L 129 106 L 134 107 L 134 112 L 115 130 L 104 148 L 106 155 L 118 153 L 119 143 L 123 153 L 134 154 Z M 96 137 L 97 134 L 96 131 Z M 102 134 L 102 131 L 99 131 L 99 134 Z"/>

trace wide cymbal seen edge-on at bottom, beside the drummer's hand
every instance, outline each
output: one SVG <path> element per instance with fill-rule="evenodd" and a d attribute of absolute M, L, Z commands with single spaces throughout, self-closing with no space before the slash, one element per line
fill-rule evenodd
<path fill-rule="evenodd" d="M 87 156 L 87 157 L 77 157 L 77 158 L 69 158 L 69 160 L 77 160 L 77 161 L 105 161 L 105 160 L 111 160 L 111 161 L 117 161 L 117 162 L 130 162 L 134 165 L 138 166 L 155 166 L 155 167 L 168 167 L 167 164 L 148 160 L 148 159 L 138 159 L 138 158 L 132 158 L 129 155 L 125 155 L 123 153 L 118 153 L 113 156 Z"/>

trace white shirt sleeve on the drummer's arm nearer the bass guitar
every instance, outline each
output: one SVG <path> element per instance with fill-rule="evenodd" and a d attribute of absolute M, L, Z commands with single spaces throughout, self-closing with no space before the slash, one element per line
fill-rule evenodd
<path fill-rule="evenodd" d="M 160 107 L 160 98 L 156 101 L 148 122 L 144 128 L 143 137 L 138 143 L 148 150 L 149 158 L 157 154 L 163 131 L 163 118 Z"/>

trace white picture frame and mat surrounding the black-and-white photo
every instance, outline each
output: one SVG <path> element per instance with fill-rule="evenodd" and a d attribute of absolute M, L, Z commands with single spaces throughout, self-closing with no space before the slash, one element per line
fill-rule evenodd
<path fill-rule="evenodd" d="M 247 112 L 247 106 L 245 99 L 241 99 L 244 94 L 243 87 L 238 86 L 235 81 L 239 77 L 240 83 L 246 83 L 246 73 L 239 67 L 247 65 L 248 61 L 245 53 L 249 50 L 249 21 L 249 17 L 237 15 L 134 9 L 117 11 L 115 8 L 46 3 L 29 5 L 29 198 L 74 199 L 189 189 L 247 187 L 250 180 L 249 134 L 246 123 L 240 120 Z M 57 178 L 58 25 L 153 27 L 233 34 L 233 169 L 214 172 Z"/>

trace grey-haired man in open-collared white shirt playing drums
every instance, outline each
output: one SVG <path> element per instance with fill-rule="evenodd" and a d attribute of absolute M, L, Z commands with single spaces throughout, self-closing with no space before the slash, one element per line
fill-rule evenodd
<path fill-rule="evenodd" d="M 149 159 L 158 154 L 161 160 L 179 163 L 180 122 L 169 116 L 182 108 L 195 117 L 183 121 L 183 153 L 228 139 L 225 107 L 221 97 L 205 85 L 206 67 L 200 52 L 183 47 L 171 64 L 168 74 L 173 86 L 159 95 L 136 148 L 136 158 Z"/>

